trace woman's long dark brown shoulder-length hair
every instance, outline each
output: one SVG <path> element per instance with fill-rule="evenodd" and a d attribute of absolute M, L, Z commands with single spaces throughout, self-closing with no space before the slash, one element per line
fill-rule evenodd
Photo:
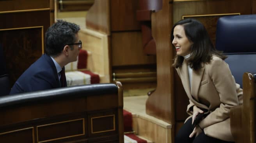
<path fill-rule="evenodd" d="M 191 55 L 188 59 L 188 65 L 192 69 L 197 70 L 201 68 L 201 63 L 209 63 L 213 55 L 221 59 L 227 58 L 222 52 L 215 49 L 204 25 L 196 19 L 184 19 L 174 24 L 171 32 L 171 41 L 174 39 L 173 32 L 177 25 L 183 26 L 186 37 L 190 42 L 193 42 L 191 45 Z M 181 67 L 183 60 L 183 56 L 176 55 L 172 66 L 175 68 Z"/>

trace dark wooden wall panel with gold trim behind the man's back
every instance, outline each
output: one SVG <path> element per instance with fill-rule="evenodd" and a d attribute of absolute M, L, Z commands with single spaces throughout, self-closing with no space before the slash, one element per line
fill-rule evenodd
<path fill-rule="evenodd" d="M 0 23 L 0 43 L 4 48 L 11 87 L 18 77 L 43 54 L 44 33 L 51 23 L 49 1 L 47 3 L 46 10 L 0 12 L 0 19 L 4 21 Z"/>

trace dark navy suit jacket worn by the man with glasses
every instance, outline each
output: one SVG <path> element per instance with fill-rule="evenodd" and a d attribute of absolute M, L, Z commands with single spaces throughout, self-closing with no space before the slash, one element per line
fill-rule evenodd
<path fill-rule="evenodd" d="M 67 85 L 67 82 L 64 83 Z M 10 94 L 60 87 L 56 67 L 50 56 L 43 54 L 15 82 Z"/>

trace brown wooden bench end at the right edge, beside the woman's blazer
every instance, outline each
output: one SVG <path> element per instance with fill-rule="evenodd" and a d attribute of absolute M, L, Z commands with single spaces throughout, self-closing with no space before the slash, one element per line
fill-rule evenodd
<path fill-rule="evenodd" d="M 236 143 L 255 143 L 256 84 L 255 75 L 243 75 L 243 104 L 230 110 L 231 133 Z"/>

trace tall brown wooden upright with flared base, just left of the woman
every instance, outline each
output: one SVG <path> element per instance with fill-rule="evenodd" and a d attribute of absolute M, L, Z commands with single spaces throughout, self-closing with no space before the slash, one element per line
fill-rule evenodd
<path fill-rule="evenodd" d="M 174 51 L 170 31 L 172 5 L 163 0 L 163 9 L 152 14 L 152 32 L 156 41 L 157 87 L 146 102 L 146 113 L 169 124 L 174 124 Z M 174 133 L 173 133 L 174 134 Z"/>

